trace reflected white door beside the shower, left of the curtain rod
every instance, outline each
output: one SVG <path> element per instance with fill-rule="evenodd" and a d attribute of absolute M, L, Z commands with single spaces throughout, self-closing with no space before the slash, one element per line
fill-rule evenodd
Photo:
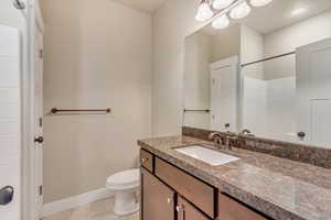
<path fill-rule="evenodd" d="M 238 79 L 236 56 L 211 64 L 211 129 L 214 131 L 237 132 Z"/>

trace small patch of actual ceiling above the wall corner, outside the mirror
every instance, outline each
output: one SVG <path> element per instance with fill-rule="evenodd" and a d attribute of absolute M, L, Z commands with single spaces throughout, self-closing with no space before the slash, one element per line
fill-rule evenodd
<path fill-rule="evenodd" d="M 166 0 L 116 0 L 127 7 L 131 7 L 145 12 L 154 12 Z"/>

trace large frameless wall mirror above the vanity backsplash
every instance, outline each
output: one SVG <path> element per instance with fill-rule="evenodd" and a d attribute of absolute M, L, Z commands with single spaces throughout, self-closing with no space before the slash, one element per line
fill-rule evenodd
<path fill-rule="evenodd" d="M 331 147 L 331 1 L 274 0 L 185 38 L 183 125 Z"/>

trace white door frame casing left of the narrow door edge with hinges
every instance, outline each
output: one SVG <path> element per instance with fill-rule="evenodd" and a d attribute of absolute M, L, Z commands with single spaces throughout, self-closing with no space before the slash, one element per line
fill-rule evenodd
<path fill-rule="evenodd" d="M 22 220 L 39 220 L 41 207 L 35 204 L 35 161 L 34 161 L 34 80 L 35 80 L 35 35 L 44 33 L 39 0 L 26 0 L 23 15 L 26 19 L 26 40 L 24 40 L 24 67 L 22 76 Z"/>

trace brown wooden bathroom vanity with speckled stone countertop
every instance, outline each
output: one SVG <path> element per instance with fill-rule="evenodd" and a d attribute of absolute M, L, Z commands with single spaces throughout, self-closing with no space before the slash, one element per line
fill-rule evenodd
<path fill-rule="evenodd" d="M 189 136 L 138 143 L 141 220 L 327 220 L 331 217 L 329 169 L 236 147 L 218 150 L 212 142 Z M 239 160 L 215 166 L 177 151 L 191 145 Z"/>

